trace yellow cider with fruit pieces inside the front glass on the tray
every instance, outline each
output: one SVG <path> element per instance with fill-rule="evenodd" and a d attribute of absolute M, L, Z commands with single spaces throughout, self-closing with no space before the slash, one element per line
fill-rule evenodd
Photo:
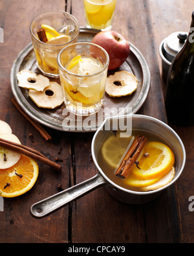
<path fill-rule="evenodd" d="M 103 76 L 87 75 L 100 71 L 103 68 L 102 63 L 91 57 L 81 58 L 81 62 L 77 62 L 71 69 L 68 69 L 69 63 L 70 61 L 65 68 L 71 73 L 83 75 L 83 77 L 61 75 L 61 86 L 66 104 L 70 104 L 75 109 L 92 108 L 95 104 L 99 104 L 103 99 L 107 75 L 106 73 L 103 73 Z"/>

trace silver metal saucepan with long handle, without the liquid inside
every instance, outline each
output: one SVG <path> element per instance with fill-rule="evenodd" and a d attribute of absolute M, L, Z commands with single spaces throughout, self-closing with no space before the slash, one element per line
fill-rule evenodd
<path fill-rule="evenodd" d="M 138 192 L 124 189 L 107 178 L 103 170 L 98 165 L 97 154 L 98 148 L 102 144 L 105 135 L 107 135 L 111 129 L 116 130 L 114 127 L 116 123 L 118 130 L 122 131 L 124 131 L 124 128 L 129 128 L 129 131 L 131 129 L 151 131 L 171 146 L 176 159 L 176 174 L 175 178 L 169 184 L 160 189 L 156 189 L 155 191 Z M 125 202 L 127 204 L 143 204 L 149 202 L 159 196 L 164 189 L 177 181 L 186 162 L 186 151 L 177 133 L 164 122 L 146 115 L 125 115 L 106 119 L 94 134 L 91 150 L 94 164 L 98 169 L 98 174 L 89 180 L 83 181 L 78 185 L 70 187 L 65 191 L 61 191 L 32 205 L 30 209 L 32 216 L 36 218 L 46 216 L 102 185 L 106 187 L 107 191 L 114 198 L 121 202 Z"/>

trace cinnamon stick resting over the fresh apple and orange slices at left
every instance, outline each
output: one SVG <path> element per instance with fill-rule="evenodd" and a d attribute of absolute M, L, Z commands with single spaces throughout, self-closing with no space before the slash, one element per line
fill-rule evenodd
<path fill-rule="evenodd" d="M 0 146 L 3 146 L 5 148 L 18 152 L 25 156 L 31 157 L 32 159 L 35 159 L 37 161 L 41 161 L 42 163 L 45 163 L 46 165 L 52 167 L 52 169 L 58 172 L 61 170 L 61 165 L 58 165 L 57 163 L 51 161 L 50 159 L 48 159 L 46 156 L 44 156 L 37 150 L 34 150 L 33 148 L 30 148 L 28 146 L 20 145 L 18 143 L 14 143 L 11 141 L 6 141 L 5 139 L 1 139 L 1 138 L 0 138 Z"/>

